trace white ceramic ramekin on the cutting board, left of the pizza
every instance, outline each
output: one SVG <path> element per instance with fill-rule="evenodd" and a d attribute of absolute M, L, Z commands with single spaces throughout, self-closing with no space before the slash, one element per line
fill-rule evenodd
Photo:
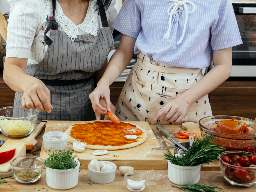
<path fill-rule="evenodd" d="M 65 139 L 49 140 L 49 139 L 46 139 L 45 136 L 56 137 L 57 139 L 61 139 L 61 137 L 64 137 Z M 50 149 L 51 151 L 64 150 L 67 147 L 67 139 L 68 139 L 68 135 L 66 133 L 49 132 L 43 135 L 43 146 L 46 149 Z"/>

